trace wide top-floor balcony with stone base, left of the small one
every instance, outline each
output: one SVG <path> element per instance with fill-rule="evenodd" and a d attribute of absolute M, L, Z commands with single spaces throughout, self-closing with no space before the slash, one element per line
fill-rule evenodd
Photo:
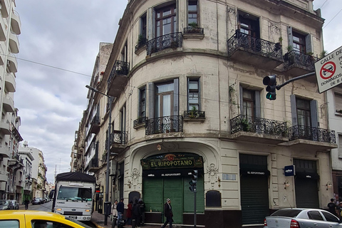
<path fill-rule="evenodd" d="M 228 58 L 274 69 L 283 63 L 281 46 L 237 31 L 227 41 Z"/>

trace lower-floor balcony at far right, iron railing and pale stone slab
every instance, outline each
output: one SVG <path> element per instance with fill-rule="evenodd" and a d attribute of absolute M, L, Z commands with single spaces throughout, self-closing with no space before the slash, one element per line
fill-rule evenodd
<path fill-rule="evenodd" d="M 292 145 L 305 150 L 330 150 L 337 148 L 334 130 L 313 128 L 304 125 L 294 125 L 288 129 L 289 142 Z"/>

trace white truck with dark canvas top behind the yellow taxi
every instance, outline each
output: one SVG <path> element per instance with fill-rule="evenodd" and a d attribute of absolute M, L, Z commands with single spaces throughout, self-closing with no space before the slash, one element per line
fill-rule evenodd
<path fill-rule="evenodd" d="M 83 172 L 63 172 L 56 176 L 52 212 L 78 221 L 90 221 L 93 214 L 95 177 Z"/>

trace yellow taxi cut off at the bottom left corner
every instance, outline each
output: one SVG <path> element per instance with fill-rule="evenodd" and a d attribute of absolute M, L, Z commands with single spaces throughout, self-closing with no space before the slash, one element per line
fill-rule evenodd
<path fill-rule="evenodd" d="M 61 214 L 30 210 L 0 211 L 0 227 L 6 228 L 91 228 Z"/>

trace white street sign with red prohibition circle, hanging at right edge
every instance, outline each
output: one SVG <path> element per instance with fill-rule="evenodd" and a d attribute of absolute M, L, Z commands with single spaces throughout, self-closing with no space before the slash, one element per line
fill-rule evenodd
<path fill-rule="evenodd" d="M 315 63 L 318 92 L 342 83 L 342 46 Z"/>

